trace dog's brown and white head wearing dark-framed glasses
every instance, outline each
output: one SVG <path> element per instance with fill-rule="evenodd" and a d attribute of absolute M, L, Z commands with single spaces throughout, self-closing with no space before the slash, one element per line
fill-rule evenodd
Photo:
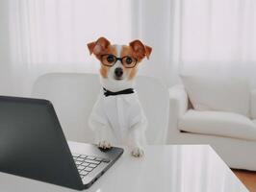
<path fill-rule="evenodd" d="M 101 77 L 118 83 L 133 80 L 139 63 L 144 58 L 149 59 L 152 51 L 138 39 L 129 45 L 116 45 L 105 37 L 90 42 L 88 48 L 90 55 L 93 54 L 101 62 Z"/>

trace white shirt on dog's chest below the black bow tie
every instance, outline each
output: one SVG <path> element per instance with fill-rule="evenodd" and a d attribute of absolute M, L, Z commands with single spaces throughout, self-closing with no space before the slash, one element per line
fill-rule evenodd
<path fill-rule="evenodd" d="M 106 97 L 103 90 L 92 108 L 90 118 L 113 129 L 117 139 L 123 138 L 137 123 L 146 121 L 136 92 Z"/>

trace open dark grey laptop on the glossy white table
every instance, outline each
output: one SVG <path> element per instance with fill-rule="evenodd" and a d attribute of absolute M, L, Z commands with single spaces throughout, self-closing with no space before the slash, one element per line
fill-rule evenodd
<path fill-rule="evenodd" d="M 83 190 L 123 153 L 116 147 L 85 148 L 83 155 L 70 152 L 49 101 L 0 96 L 1 172 Z"/>

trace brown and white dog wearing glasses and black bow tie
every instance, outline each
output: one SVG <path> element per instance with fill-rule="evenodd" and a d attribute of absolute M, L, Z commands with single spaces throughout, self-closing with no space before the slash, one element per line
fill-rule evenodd
<path fill-rule="evenodd" d="M 102 89 L 90 113 L 90 129 L 99 148 L 127 145 L 132 156 L 143 156 L 147 120 L 134 90 L 138 66 L 152 48 L 141 40 L 129 45 L 111 44 L 105 37 L 88 43 L 90 55 L 100 61 Z"/>

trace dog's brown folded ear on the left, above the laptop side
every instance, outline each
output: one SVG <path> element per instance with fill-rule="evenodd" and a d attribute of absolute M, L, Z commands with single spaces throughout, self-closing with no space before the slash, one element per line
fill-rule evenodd
<path fill-rule="evenodd" d="M 88 43 L 90 55 L 99 55 L 101 52 L 107 49 L 110 44 L 110 41 L 105 37 L 99 37 L 96 41 Z"/>

